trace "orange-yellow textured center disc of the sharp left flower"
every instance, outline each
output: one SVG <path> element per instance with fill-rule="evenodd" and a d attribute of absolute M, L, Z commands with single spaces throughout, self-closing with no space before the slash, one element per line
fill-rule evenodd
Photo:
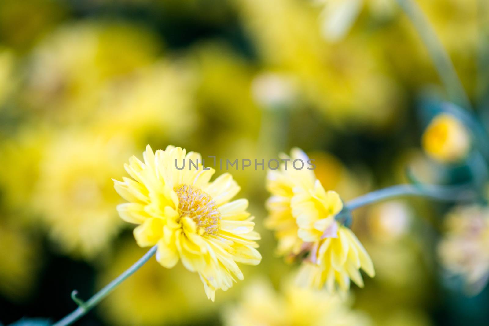
<path fill-rule="evenodd" d="M 216 235 L 221 224 L 221 213 L 211 196 L 198 187 L 181 184 L 173 188 L 178 196 L 180 217 L 188 216 L 197 224 L 201 235 Z"/>

